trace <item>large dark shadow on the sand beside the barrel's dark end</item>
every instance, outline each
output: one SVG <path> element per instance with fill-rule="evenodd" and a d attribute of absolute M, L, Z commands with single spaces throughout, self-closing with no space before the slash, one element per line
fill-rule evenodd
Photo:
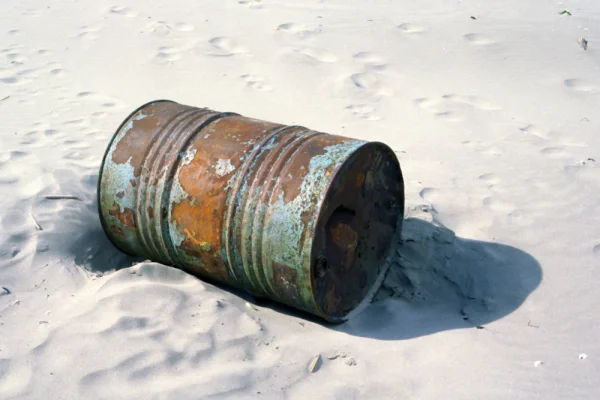
<path fill-rule="evenodd" d="M 484 329 L 519 308 L 541 281 L 539 263 L 519 249 L 409 218 L 371 304 L 332 329 L 382 340 Z"/>

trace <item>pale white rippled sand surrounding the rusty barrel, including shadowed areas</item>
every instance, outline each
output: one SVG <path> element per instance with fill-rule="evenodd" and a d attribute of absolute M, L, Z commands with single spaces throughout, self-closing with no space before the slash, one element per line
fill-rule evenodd
<path fill-rule="evenodd" d="M 397 150 L 373 304 L 331 327 L 131 266 L 97 173 L 157 98 Z M 600 398 L 599 110 L 597 0 L 2 0 L 0 399 Z"/>

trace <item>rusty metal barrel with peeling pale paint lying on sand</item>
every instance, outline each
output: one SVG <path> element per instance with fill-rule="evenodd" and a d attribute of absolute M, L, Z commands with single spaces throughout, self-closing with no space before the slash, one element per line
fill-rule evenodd
<path fill-rule="evenodd" d="M 98 207 L 125 253 L 342 322 L 382 274 L 404 183 L 383 143 L 160 100 L 110 141 Z"/>

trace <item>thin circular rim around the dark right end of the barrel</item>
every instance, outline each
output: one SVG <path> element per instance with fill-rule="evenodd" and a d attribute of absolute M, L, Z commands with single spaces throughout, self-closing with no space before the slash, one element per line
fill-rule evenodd
<path fill-rule="evenodd" d="M 360 139 L 353 139 L 353 140 L 360 141 Z M 403 197 L 402 210 L 401 210 L 400 215 L 398 216 L 398 219 L 399 220 L 404 219 L 404 209 L 405 209 L 406 200 L 405 200 L 405 190 L 404 190 L 404 175 L 402 174 L 402 167 L 400 165 L 400 160 L 398 159 L 398 156 L 396 156 L 396 153 L 394 152 L 394 150 L 387 144 L 385 144 L 383 142 L 379 142 L 379 141 L 365 141 L 362 145 L 356 147 L 350 154 L 348 154 L 344 158 L 344 161 L 342 162 L 342 164 L 336 169 L 336 171 L 333 174 L 333 176 L 331 177 L 331 179 L 329 179 L 329 181 L 327 182 L 327 186 L 324 190 L 325 194 L 323 197 L 323 201 L 319 202 L 319 205 L 318 205 L 317 214 L 316 214 L 317 219 L 315 220 L 315 231 L 313 234 L 315 234 L 315 235 L 317 234 L 316 229 L 319 226 L 321 218 L 323 217 L 323 211 L 324 211 L 323 209 L 324 209 L 324 205 L 325 205 L 325 200 L 327 199 L 327 195 L 329 194 L 329 191 L 331 190 L 331 186 L 333 185 L 335 180 L 338 178 L 338 175 L 341 173 L 344 166 L 350 161 L 352 156 L 354 156 L 359 151 L 363 151 L 365 147 L 383 148 L 383 149 L 387 150 L 393 156 L 393 159 L 396 161 L 396 163 L 398 165 L 398 170 L 400 172 L 400 179 L 402 180 L 402 197 Z M 397 236 L 398 229 L 402 229 L 402 224 L 399 224 L 396 226 L 396 232 L 395 232 L 394 236 Z M 315 309 L 318 312 L 318 315 L 321 318 L 325 319 L 327 322 L 334 323 L 334 324 L 341 324 L 343 322 L 346 322 L 351 316 L 355 315 L 357 311 L 362 310 L 364 308 L 365 303 L 368 302 L 370 300 L 370 298 L 373 297 L 373 295 L 377 292 L 377 290 L 375 290 L 375 287 L 381 285 L 381 283 L 383 282 L 383 278 L 385 277 L 385 275 L 387 273 L 388 268 L 384 267 L 380 271 L 379 275 L 377 276 L 377 279 L 373 283 L 373 286 L 367 291 L 367 294 L 356 305 L 356 307 L 354 307 L 353 309 L 351 309 L 346 314 L 344 314 L 340 317 L 334 317 L 334 316 L 331 316 L 331 315 L 328 315 L 327 313 L 325 313 L 321 309 L 321 306 L 316 301 L 316 296 L 315 296 L 316 285 L 315 285 L 315 277 L 313 274 L 313 262 L 312 262 L 313 255 L 314 255 L 314 246 L 315 246 L 315 241 L 313 240 L 313 243 L 310 248 L 310 256 L 309 256 L 309 258 L 310 258 L 309 274 L 310 274 L 310 285 L 311 285 L 312 298 L 314 300 L 314 304 L 316 307 Z M 388 261 L 388 258 L 390 256 L 391 252 L 393 251 L 392 246 L 393 246 L 393 244 L 390 246 L 390 249 L 388 250 L 388 254 L 386 255 L 386 257 L 384 259 L 385 262 Z"/>

